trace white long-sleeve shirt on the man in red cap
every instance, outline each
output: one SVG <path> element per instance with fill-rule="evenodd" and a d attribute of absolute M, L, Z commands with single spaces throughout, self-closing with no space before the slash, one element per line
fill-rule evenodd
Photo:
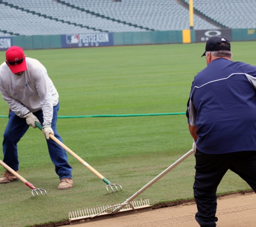
<path fill-rule="evenodd" d="M 53 106 L 59 95 L 46 68 L 36 59 L 26 58 L 27 70 L 15 75 L 5 62 L 0 66 L 0 92 L 10 109 L 19 117 L 43 111 L 44 123 L 51 124 Z"/>

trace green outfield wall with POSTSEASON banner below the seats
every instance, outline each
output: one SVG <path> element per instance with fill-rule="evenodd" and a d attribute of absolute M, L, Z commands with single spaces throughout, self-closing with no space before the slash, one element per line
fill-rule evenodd
<path fill-rule="evenodd" d="M 116 32 L 107 34 L 88 33 L 64 34 L 57 36 L 0 37 L 0 51 L 8 49 L 10 46 L 20 46 L 23 49 L 52 49 L 97 46 L 182 44 L 205 42 L 210 37 L 216 35 L 222 35 L 230 41 L 256 40 L 256 29 Z"/>

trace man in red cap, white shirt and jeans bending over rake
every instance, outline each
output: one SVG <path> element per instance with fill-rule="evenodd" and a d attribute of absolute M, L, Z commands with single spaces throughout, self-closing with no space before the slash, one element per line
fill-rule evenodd
<path fill-rule="evenodd" d="M 12 46 L 6 51 L 6 61 L 0 66 L 0 92 L 9 105 L 9 121 L 4 131 L 3 153 L 6 165 L 18 172 L 17 143 L 35 122 L 43 125 L 49 154 L 59 175 L 59 190 L 73 187 L 72 167 L 67 162 L 66 151 L 53 140 L 57 132 L 59 95 L 47 74 L 46 68 L 36 59 L 26 58 L 23 49 Z M 17 181 L 15 175 L 5 171 L 0 183 Z"/>

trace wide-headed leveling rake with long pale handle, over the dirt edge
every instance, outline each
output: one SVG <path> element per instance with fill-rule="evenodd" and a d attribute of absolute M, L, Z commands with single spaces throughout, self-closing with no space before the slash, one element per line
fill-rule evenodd
<path fill-rule="evenodd" d="M 174 162 L 174 164 L 172 164 L 167 169 L 165 169 L 161 174 L 157 175 L 153 180 L 147 183 L 147 185 L 145 185 L 143 188 L 141 188 L 139 191 L 137 191 L 134 195 L 132 195 L 123 203 L 102 205 L 95 208 L 86 208 L 86 209 L 79 209 L 79 210 L 72 210 L 72 211 L 70 210 L 68 212 L 68 220 L 70 221 L 70 224 L 79 224 L 79 223 L 85 222 L 86 220 L 92 221 L 92 218 L 95 219 L 96 217 L 106 218 L 104 216 L 117 215 L 123 211 L 135 211 L 137 209 L 150 208 L 151 206 L 149 204 L 148 198 L 143 198 L 143 199 L 133 201 L 134 198 L 136 198 L 141 193 L 143 193 L 144 190 L 146 190 L 151 185 L 153 185 L 156 181 L 162 178 L 162 176 L 164 176 L 169 171 L 171 171 L 171 169 L 175 168 L 183 160 L 188 158 L 192 153 L 193 153 L 193 150 L 191 149 L 188 153 L 184 154 L 181 158 L 179 158 L 176 162 Z"/>

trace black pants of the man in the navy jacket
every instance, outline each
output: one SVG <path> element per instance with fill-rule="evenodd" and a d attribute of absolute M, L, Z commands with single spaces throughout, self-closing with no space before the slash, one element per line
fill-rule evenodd
<path fill-rule="evenodd" d="M 197 204 L 196 221 L 201 227 L 215 227 L 218 218 L 217 187 L 230 169 L 256 192 L 256 151 L 206 154 L 196 151 L 196 175 L 193 185 Z"/>

